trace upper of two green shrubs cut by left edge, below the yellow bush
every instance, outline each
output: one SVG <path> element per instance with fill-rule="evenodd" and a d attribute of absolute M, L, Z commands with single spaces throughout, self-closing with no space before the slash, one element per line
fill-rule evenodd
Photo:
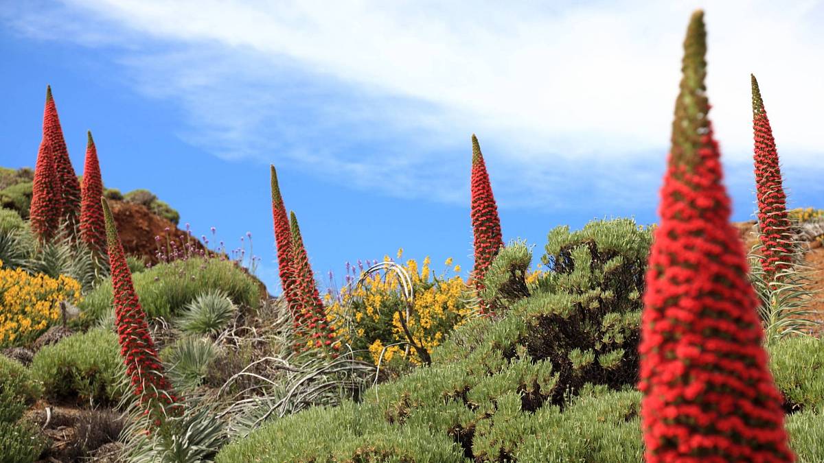
<path fill-rule="evenodd" d="M 20 362 L 0 355 L 0 422 L 14 423 L 43 393 Z"/>

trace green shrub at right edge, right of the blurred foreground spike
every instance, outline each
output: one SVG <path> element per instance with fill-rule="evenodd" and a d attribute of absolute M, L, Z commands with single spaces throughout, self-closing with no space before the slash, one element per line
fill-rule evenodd
<path fill-rule="evenodd" d="M 769 346 L 775 384 L 794 409 L 824 412 L 824 341 L 790 336 Z"/>

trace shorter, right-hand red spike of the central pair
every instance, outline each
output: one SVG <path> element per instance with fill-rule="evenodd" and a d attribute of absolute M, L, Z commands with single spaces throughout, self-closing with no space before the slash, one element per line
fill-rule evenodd
<path fill-rule="evenodd" d="M 301 229 L 297 226 L 295 213 L 290 214 L 290 227 L 292 229 L 292 252 L 293 252 L 293 297 L 295 298 L 295 327 L 297 335 L 304 339 L 301 345 L 296 344 L 298 350 L 309 347 L 310 339 L 314 348 L 333 348 L 337 350 L 339 344 L 335 343 L 335 328 L 329 325 L 326 320 L 326 309 L 323 306 L 321 295 L 317 291 L 315 284 L 315 274 L 309 264 L 307 250 L 303 246 Z M 334 344 L 334 345 L 333 345 Z"/>

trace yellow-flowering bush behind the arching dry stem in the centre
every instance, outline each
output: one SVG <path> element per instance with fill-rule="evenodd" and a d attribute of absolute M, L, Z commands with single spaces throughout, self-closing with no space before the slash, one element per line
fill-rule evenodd
<path fill-rule="evenodd" d="M 399 259 L 402 253 L 403 250 L 398 251 Z M 389 257 L 384 260 L 389 261 Z M 461 299 L 466 287 L 457 274 L 461 268 L 452 267 L 452 259 L 448 259 L 447 269 L 436 276 L 430 264 L 427 257 L 420 265 L 414 259 L 402 265 L 413 288 L 413 305 L 406 325 L 415 344 L 428 352 L 441 344 L 471 312 L 471 307 Z M 354 283 L 336 297 L 327 296 L 327 301 L 334 300 L 328 309 L 329 320 L 344 343 L 351 345 L 361 358 L 375 364 L 379 359 L 382 365 L 419 364 L 421 358 L 408 346 L 401 324 L 401 317 L 406 316 L 406 300 L 399 275 L 381 271 L 368 274 L 361 284 Z"/>

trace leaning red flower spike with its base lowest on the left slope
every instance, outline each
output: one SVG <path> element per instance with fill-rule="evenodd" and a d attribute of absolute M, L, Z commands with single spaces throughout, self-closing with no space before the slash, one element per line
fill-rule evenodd
<path fill-rule="evenodd" d="M 115 294 L 115 328 L 119 334 L 120 355 L 132 378 L 133 394 L 143 406 L 143 414 L 147 415 L 154 426 L 159 426 L 167 415 L 180 414 L 182 399 L 175 395 L 163 372 L 163 364 L 157 358 L 146 312 L 134 292 L 132 274 L 126 264 L 115 219 L 112 218 L 109 203 L 103 198 L 101 203 L 106 239 L 109 242 L 111 281 Z"/>

